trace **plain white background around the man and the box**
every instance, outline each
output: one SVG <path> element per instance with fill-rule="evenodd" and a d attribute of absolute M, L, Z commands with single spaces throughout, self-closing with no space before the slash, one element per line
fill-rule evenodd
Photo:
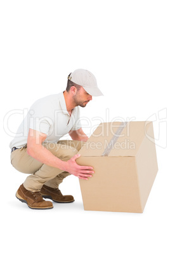
<path fill-rule="evenodd" d="M 3 255 L 169 255 L 169 13 L 164 0 L 1 1 Z M 60 186 L 72 204 L 36 211 L 15 198 L 27 175 L 8 145 L 23 116 L 9 113 L 65 90 L 77 68 L 104 94 L 81 109 L 88 135 L 101 121 L 154 121 L 159 173 L 142 214 L 84 211 L 75 176 Z"/>

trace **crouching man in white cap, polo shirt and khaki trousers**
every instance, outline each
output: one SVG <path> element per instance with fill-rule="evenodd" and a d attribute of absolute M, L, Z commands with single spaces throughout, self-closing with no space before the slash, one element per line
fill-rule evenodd
<path fill-rule="evenodd" d="M 53 208 L 58 203 L 71 203 L 72 196 L 63 196 L 58 185 L 74 174 L 88 180 L 94 173 L 91 166 L 79 166 L 78 151 L 88 136 L 79 122 L 79 106 L 84 108 L 92 96 L 103 95 L 95 76 L 85 69 L 76 69 L 68 76 L 67 88 L 60 94 L 34 103 L 11 141 L 11 164 L 30 174 L 18 188 L 16 197 L 32 209 Z M 72 140 L 59 140 L 69 133 Z"/>

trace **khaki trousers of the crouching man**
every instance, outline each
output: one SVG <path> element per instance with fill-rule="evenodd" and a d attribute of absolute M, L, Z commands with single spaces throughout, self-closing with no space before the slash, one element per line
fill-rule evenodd
<path fill-rule="evenodd" d="M 53 155 L 63 161 L 69 160 L 77 154 L 84 145 L 84 141 L 61 140 L 58 143 L 43 143 Z M 30 174 L 23 185 L 27 190 L 37 192 L 42 185 L 58 188 L 63 178 L 70 175 L 67 171 L 42 164 L 27 153 L 27 145 L 11 153 L 11 164 L 22 173 Z"/>

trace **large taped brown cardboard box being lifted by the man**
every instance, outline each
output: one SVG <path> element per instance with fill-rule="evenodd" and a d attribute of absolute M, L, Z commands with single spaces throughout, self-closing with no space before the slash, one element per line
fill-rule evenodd
<path fill-rule="evenodd" d="M 79 179 L 84 210 L 143 212 L 158 171 L 152 122 L 101 123 L 79 153 L 95 171 Z"/>

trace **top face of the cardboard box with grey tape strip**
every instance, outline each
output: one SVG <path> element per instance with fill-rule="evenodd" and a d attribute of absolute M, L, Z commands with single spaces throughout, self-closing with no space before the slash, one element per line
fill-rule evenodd
<path fill-rule="evenodd" d="M 134 157 L 150 125 L 152 122 L 142 121 L 101 123 L 79 153 L 82 156 Z"/>

